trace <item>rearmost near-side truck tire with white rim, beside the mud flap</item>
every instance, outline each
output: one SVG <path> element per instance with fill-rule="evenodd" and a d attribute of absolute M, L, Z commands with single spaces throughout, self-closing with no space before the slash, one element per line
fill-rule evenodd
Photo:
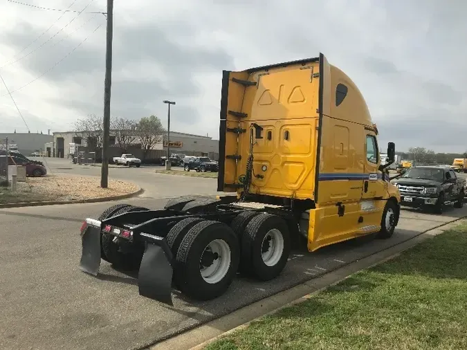
<path fill-rule="evenodd" d="M 239 260 L 239 242 L 228 225 L 208 220 L 196 223 L 176 254 L 176 286 L 196 300 L 219 297 L 232 284 Z"/>

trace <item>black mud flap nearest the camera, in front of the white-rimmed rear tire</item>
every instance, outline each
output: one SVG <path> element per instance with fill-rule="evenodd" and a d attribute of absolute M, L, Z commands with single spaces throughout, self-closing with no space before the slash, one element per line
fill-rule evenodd
<path fill-rule="evenodd" d="M 170 264 L 172 260 L 170 248 L 167 246 L 167 249 L 168 253 L 162 246 L 147 243 L 138 273 L 138 286 L 140 295 L 173 306 L 172 275 L 174 271 Z"/>

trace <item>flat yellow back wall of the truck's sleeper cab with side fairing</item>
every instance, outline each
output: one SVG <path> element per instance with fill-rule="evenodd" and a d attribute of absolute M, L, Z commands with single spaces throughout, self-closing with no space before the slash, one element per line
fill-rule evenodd
<path fill-rule="evenodd" d="M 223 73 L 218 191 L 242 187 L 250 149 L 250 192 L 313 196 L 318 59 Z"/>

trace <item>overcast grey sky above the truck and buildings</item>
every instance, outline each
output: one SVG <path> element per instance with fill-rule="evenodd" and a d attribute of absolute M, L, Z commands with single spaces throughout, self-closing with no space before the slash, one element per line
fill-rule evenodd
<path fill-rule="evenodd" d="M 0 3 L 0 73 L 31 132 L 102 115 L 106 19 L 85 12 L 107 1 L 21 2 L 87 6 Z M 383 148 L 466 151 L 466 13 L 455 0 L 116 1 L 111 113 L 166 125 L 162 100 L 175 100 L 172 130 L 218 138 L 223 69 L 322 52 L 359 86 Z M 15 129 L 27 131 L 0 82 L 0 132 Z"/>

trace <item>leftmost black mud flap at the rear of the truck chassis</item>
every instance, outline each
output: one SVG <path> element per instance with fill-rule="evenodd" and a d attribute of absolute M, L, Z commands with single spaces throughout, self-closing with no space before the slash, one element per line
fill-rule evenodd
<path fill-rule="evenodd" d="M 88 225 L 81 237 L 82 253 L 80 269 L 91 275 L 98 275 L 100 267 L 100 227 Z"/>

